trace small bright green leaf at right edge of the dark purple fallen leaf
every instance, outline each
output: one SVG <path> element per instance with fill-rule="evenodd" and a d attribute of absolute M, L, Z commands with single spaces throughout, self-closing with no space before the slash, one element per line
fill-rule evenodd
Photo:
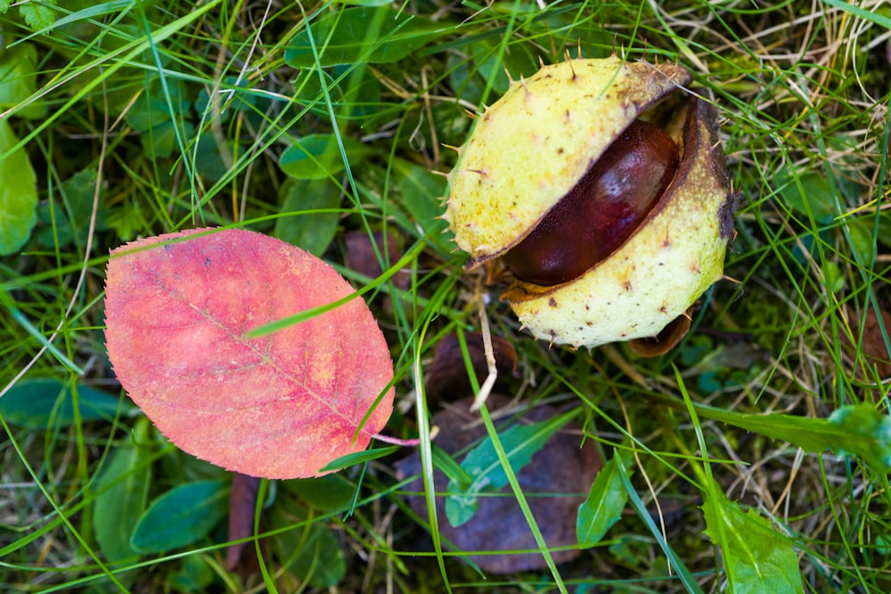
<path fill-rule="evenodd" d="M 576 537 L 581 549 L 588 549 L 601 541 L 609 528 L 622 518 L 628 492 L 617 466 L 626 466 L 619 455 L 603 465 L 591 485 L 588 499 L 578 507 Z"/>

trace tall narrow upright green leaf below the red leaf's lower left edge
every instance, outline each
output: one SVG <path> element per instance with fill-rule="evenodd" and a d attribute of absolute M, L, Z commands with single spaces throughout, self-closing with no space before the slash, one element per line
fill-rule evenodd
<path fill-rule="evenodd" d="M 98 494 L 93 503 L 93 531 L 99 549 L 112 564 L 139 557 L 130 548 L 130 536 L 145 509 L 151 452 L 142 444 L 149 443 L 150 432 L 149 419 L 137 419 L 133 438 L 111 452 L 94 487 Z"/>

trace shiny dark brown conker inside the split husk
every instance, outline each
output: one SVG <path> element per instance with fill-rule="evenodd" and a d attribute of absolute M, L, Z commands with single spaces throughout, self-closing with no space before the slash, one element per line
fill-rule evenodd
<path fill-rule="evenodd" d="M 542 221 L 502 256 L 521 281 L 550 287 L 581 276 L 641 224 L 674 178 L 678 148 L 636 119 Z"/>

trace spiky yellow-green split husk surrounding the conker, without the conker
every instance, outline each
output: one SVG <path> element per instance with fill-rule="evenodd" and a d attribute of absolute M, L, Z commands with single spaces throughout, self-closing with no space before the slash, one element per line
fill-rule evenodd
<path fill-rule="evenodd" d="M 681 151 L 671 185 L 610 256 L 556 287 L 505 291 L 536 338 L 590 347 L 655 337 L 723 275 L 732 198 L 715 110 L 681 88 L 690 79 L 675 64 L 569 60 L 513 83 L 478 118 L 446 208 L 469 269 L 523 240 L 634 119 L 658 118 Z"/>

